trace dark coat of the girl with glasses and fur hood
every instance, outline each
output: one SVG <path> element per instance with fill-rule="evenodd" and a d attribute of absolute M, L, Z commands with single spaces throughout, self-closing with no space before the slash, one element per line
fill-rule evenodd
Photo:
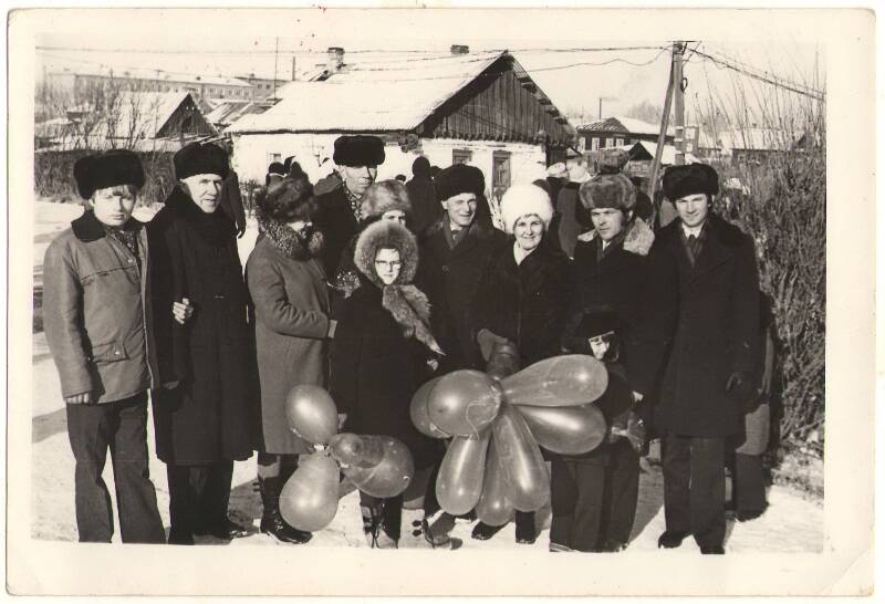
<path fill-rule="evenodd" d="M 413 426 L 409 404 L 429 377 L 429 351 L 403 335 L 382 305 L 382 290 L 361 281 L 344 301 L 331 347 L 331 394 L 339 413 L 347 414 L 343 430 L 398 438 L 415 468 L 426 468 L 438 460 L 440 442 Z"/>

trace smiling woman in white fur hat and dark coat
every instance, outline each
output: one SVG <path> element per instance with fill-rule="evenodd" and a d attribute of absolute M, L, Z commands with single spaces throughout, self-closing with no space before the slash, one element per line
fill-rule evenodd
<path fill-rule="evenodd" d="M 486 361 L 496 345 L 519 351 L 520 367 L 560 354 L 572 283 L 571 261 L 548 242 L 553 206 L 535 185 L 514 185 L 501 199 L 504 230 L 511 235 L 486 268 L 473 309 L 473 333 Z M 482 522 L 475 539 L 500 528 Z M 517 542 L 533 543 L 534 514 L 517 512 Z"/>

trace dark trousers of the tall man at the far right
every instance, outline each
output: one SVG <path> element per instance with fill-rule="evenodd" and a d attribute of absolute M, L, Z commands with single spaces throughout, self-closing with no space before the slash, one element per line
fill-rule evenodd
<path fill-rule="evenodd" d="M 667 434 L 660 444 L 667 530 L 694 534 L 701 548 L 721 548 L 726 537 L 725 439 Z"/>

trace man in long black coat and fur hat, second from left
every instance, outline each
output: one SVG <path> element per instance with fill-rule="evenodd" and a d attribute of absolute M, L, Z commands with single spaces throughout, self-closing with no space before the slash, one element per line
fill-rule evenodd
<path fill-rule="evenodd" d="M 227 154 L 191 143 L 173 158 L 179 184 L 150 222 L 159 372 L 154 423 L 169 479 L 169 543 L 246 530 L 228 519 L 233 461 L 257 445 L 254 351 L 233 221 L 220 206 Z M 173 302 L 192 315 L 167 317 Z"/>

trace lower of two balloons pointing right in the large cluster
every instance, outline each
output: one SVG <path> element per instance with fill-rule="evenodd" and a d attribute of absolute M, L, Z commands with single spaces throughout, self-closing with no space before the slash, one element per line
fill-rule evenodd
<path fill-rule="evenodd" d="M 580 455 L 592 451 L 605 439 L 605 417 L 596 406 L 589 403 L 580 407 L 519 408 L 534 440 L 543 448 L 562 455 Z"/>

